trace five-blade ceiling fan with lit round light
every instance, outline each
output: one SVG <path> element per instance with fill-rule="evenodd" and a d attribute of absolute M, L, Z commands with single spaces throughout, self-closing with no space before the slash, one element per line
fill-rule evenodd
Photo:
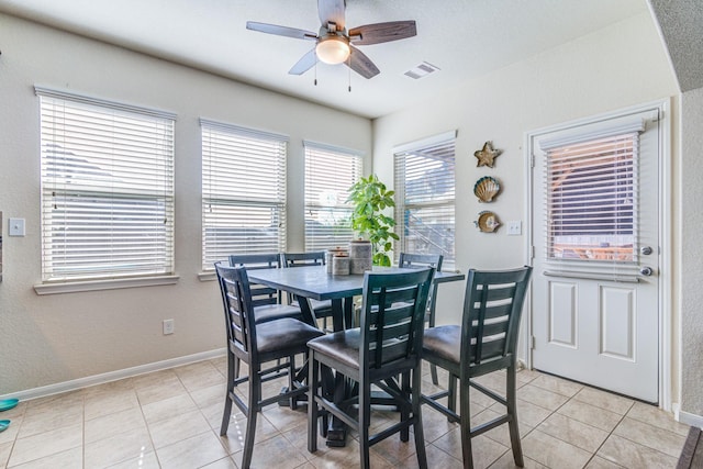
<path fill-rule="evenodd" d="M 267 34 L 315 41 L 315 48 L 303 55 L 288 71 L 302 75 L 310 70 L 317 59 L 326 64 L 346 64 L 364 78 L 372 78 L 380 70 L 361 51 L 355 46 L 404 40 L 417 34 L 415 22 L 390 21 L 353 27 L 347 32 L 345 24 L 346 0 L 317 0 L 317 12 L 322 25 L 319 33 L 295 27 L 247 21 L 247 30 Z"/>

